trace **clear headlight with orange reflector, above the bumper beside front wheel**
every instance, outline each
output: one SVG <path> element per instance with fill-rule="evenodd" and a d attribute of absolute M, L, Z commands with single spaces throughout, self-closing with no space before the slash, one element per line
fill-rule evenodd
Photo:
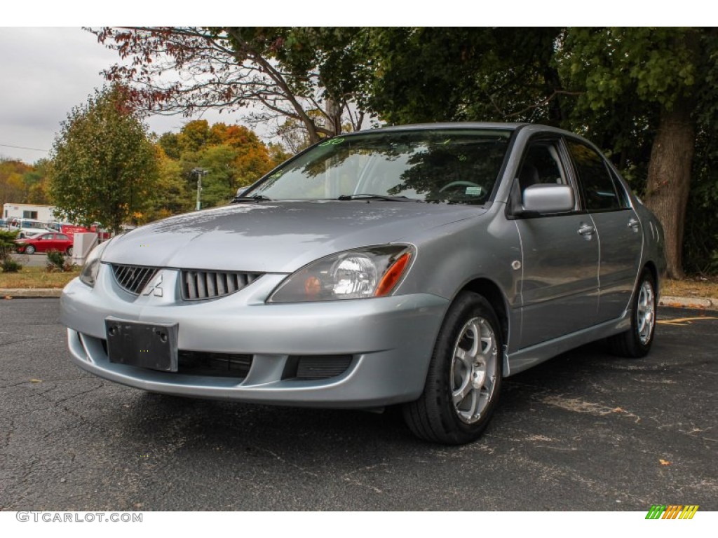
<path fill-rule="evenodd" d="M 409 245 L 383 245 L 332 254 L 290 275 L 271 294 L 268 302 L 386 296 L 406 273 L 414 253 L 414 247 Z"/>

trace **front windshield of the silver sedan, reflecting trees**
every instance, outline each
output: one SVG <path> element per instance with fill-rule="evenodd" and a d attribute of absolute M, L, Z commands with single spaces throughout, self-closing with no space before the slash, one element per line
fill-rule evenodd
<path fill-rule="evenodd" d="M 391 197 L 483 204 L 510 131 L 389 131 L 330 138 L 281 166 L 246 197 Z"/>

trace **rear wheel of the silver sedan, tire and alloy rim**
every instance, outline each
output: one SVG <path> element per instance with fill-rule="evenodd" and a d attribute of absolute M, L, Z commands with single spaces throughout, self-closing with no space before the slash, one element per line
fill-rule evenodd
<path fill-rule="evenodd" d="M 607 340 L 613 354 L 638 359 L 651 351 L 656 329 L 656 301 L 656 279 L 650 270 L 644 269 L 633 293 L 630 329 Z"/>

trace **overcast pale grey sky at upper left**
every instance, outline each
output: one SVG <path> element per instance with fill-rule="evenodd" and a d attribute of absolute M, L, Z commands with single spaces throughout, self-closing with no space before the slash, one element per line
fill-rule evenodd
<path fill-rule="evenodd" d="M 0 28 L 0 157 L 29 164 L 47 157 L 60 122 L 102 87 L 101 70 L 117 60 L 116 52 L 80 27 Z M 216 112 L 204 118 L 241 120 L 238 114 Z M 151 131 L 164 133 L 187 121 L 181 115 L 155 115 L 147 123 Z"/>

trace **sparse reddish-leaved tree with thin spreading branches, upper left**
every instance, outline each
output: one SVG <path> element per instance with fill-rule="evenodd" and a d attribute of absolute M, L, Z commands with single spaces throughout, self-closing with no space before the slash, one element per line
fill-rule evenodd
<path fill-rule="evenodd" d="M 370 65 L 358 28 L 89 31 L 126 60 L 108 69 L 106 77 L 131 86 L 134 103 L 144 110 L 191 115 L 253 106 L 254 121 L 292 118 L 302 123 L 312 143 L 342 132 L 345 122 L 358 128 L 363 121 L 360 90 Z"/>

